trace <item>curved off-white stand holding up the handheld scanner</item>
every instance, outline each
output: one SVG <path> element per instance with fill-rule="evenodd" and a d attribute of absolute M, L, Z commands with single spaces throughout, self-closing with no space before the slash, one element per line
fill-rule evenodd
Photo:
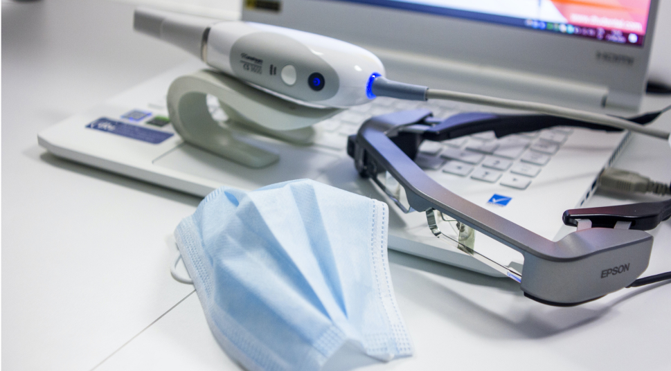
<path fill-rule="evenodd" d="M 223 125 L 208 110 L 208 94 L 229 117 Z M 315 135 L 311 126 L 339 111 L 298 105 L 206 69 L 177 78 L 168 89 L 168 114 L 184 141 L 249 168 L 264 168 L 279 156 L 236 138 L 235 130 L 307 145 Z"/>

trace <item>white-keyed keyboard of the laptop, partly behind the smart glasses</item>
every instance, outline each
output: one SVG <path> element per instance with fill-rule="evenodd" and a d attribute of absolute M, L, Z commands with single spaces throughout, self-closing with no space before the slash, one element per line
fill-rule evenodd
<path fill-rule="evenodd" d="M 424 103 L 376 98 L 368 105 L 352 107 L 317 124 L 323 133 L 315 144 L 342 150 L 346 147 L 347 136 L 355 134 L 368 118 L 418 108 L 430 109 L 433 116 L 438 118 L 482 109 L 456 102 Z M 557 127 L 503 138 L 496 138 L 494 132 L 483 132 L 442 143 L 424 141 L 415 163 L 424 170 L 442 171 L 457 177 L 469 177 L 474 181 L 499 183 L 524 190 L 542 172 L 572 132 L 570 128 Z"/>

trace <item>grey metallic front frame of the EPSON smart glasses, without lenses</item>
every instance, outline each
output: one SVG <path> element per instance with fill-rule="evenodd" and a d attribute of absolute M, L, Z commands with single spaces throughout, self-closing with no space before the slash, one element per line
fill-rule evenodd
<path fill-rule="evenodd" d="M 566 119 L 550 121 L 543 121 L 543 127 L 586 126 Z M 429 215 L 436 210 L 519 251 L 524 256 L 520 289 L 525 296 L 538 302 L 560 307 L 580 305 L 627 287 L 647 269 L 652 236 L 642 230 L 586 228 L 553 242 L 450 192 L 415 164 L 413 158 L 424 140 L 442 141 L 474 134 L 478 130 L 494 129 L 497 136 L 519 132 L 508 125 L 508 132 L 500 135 L 491 123 L 467 124 L 466 121 L 457 123 L 455 130 L 454 120 L 452 125 L 449 118 L 436 120 L 427 109 L 375 116 L 362 124 L 355 136 L 350 136 L 348 154 L 355 160 L 355 168 L 361 177 L 375 181 L 379 172 L 388 172 L 404 189 L 408 212 L 418 210 Z M 521 131 L 530 131 L 528 127 L 522 127 Z M 589 127 L 600 129 L 593 124 Z M 384 185 L 375 183 L 397 205 L 400 204 Z M 434 232 L 434 235 L 440 238 L 442 233 L 438 229 L 438 234 Z M 480 256 L 472 248 L 471 251 L 470 255 Z M 614 266 L 625 266 L 626 270 L 604 277 L 603 272 Z"/>

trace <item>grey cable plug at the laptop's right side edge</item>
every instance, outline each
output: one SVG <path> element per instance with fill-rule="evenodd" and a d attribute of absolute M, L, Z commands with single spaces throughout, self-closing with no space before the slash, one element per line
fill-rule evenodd
<path fill-rule="evenodd" d="M 599 175 L 599 188 L 618 192 L 652 192 L 654 194 L 671 194 L 671 184 L 651 181 L 635 172 L 616 168 L 607 168 Z"/>

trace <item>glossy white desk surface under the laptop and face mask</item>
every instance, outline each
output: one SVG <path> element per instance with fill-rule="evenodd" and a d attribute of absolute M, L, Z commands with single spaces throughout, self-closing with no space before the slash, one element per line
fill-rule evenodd
<path fill-rule="evenodd" d="M 193 287 L 172 280 L 172 230 L 199 199 L 57 159 L 37 132 L 188 59 L 132 32 L 132 6 L 2 2 L 2 366 L 238 370 Z M 643 109 L 671 98 L 648 96 Z M 667 114 L 659 127 L 671 128 Z M 618 166 L 671 179 L 671 150 L 635 136 Z M 645 199 L 641 197 L 639 199 Z M 597 194 L 592 205 L 630 201 Z M 644 275 L 671 270 L 671 220 Z M 671 284 L 574 308 L 508 280 L 391 253 L 415 355 L 366 370 L 669 370 Z"/>

